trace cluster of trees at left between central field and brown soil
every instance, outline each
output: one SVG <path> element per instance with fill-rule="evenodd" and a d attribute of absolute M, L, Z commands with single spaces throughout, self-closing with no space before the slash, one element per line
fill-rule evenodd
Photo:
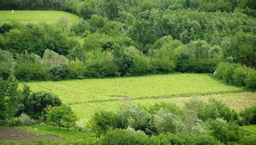
<path fill-rule="evenodd" d="M 78 120 L 71 107 L 62 105 L 50 92 L 31 93 L 29 86 L 18 90 L 17 80 L 0 79 L 0 125 L 30 125 L 38 121 L 57 123 L 59 127 L 75 127 Z M 31 120 L 32 118 L 32 120 Z"/>

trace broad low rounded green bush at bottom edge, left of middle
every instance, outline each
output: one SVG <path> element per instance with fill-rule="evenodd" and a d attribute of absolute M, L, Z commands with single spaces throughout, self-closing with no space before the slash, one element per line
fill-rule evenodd
<path fill-rule="evenodd" d="M 126 130 L 114 130 L 107 132 L 100 139 L 100 144 L 155 144 L 150 142 L 145 133 Z"/>

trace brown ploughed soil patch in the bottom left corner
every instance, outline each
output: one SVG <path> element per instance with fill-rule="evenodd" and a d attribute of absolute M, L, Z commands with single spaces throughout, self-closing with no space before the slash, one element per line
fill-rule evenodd
<path fill-rule="evenodd" d="M 5 127 L 0 126 L 0 140 L 12 140 L 12 141 L 35 141 L 42 138 L 60 138 L 53 134 L 37 135 L 27 131 L 23 131 L 17 127 Z"/>

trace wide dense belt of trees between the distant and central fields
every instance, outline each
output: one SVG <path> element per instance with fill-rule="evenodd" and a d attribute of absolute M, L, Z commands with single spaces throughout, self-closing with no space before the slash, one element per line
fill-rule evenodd
<path fill-rule="evenodd" d="M 118 1 L 102 2 L 115 6 Z M 71 26 L 66 18 L 53 25 L 3 24 L 0 74 L 29 81 L 213 73 L 221 62 L 255 68 L 255 18 L 238 10 L 150 8 L 147 2 L 141 11 L 124 8 L 115 18 L 92 13 Z"/>

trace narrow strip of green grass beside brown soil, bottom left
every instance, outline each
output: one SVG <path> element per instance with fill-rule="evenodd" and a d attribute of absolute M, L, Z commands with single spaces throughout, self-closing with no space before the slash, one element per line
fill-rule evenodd
<path fill-rule="evenodd" d="M 83 139 L 93 136 L 92 133 L 78 132 L 75 131 L 73 128 L 70 128 L 70 131 L 67 131 L 66 128 L 61 128 L 61 130 L 58 130 L 58 127 L 48 125 L 21 126 L 19 128 L 35 134 L 55 134 L 57 136 L 65 137 L 67 139 Z"/>

